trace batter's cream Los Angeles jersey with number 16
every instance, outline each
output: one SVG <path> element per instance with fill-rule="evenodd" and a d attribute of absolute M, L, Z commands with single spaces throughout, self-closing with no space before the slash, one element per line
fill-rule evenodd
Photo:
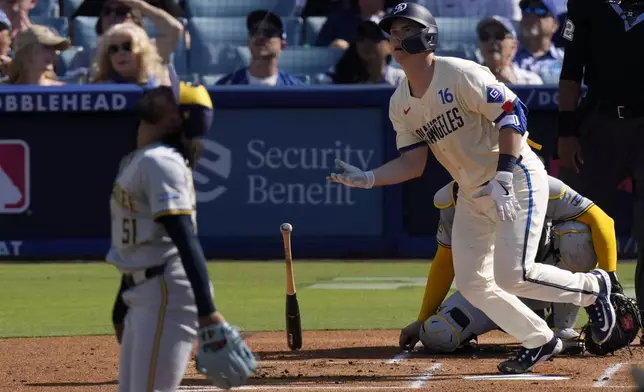
<path fill-rule="evenodd" d="M 519 125 L 517 96 L 490 70 L 473 61 L 435 56 L 434 77 L 422 98 L 411 96 L 407 79 L 389 103 L 399 150 L 427 143 L 461 187 L 475 188 L 496 174 L 499 129 Z M 529 149 L 527 132 L 523 147 Z"/>

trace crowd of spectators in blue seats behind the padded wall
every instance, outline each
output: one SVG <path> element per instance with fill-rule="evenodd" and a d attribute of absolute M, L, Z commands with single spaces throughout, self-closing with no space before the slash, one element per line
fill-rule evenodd
<path fill-rule="evenodd" d="M 507 84 L 557 84 L 566 0 L 415 0 L 438 55 Z M 403 72 L 377 26 L 399 0 L 0 0 L 3 84 L 386 83 Z M 247 5 L 251 3 L 250 5 Z"/>

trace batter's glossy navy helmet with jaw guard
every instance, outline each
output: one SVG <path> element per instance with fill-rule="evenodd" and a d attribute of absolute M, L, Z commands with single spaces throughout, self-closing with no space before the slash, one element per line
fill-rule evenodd
<path fill-rule="evenodd" d="M 436 50 L 438 26 L 434 16 L 427 8 L 415 3 L 400 3 L 392 8 L 378 25 L 389 34 L 391 25 L 398 18 L 414 21 L 424 27 L 417 34 L 405 37 L 400 41 L 400 46 L 405 52 L 416 54 Z"/>

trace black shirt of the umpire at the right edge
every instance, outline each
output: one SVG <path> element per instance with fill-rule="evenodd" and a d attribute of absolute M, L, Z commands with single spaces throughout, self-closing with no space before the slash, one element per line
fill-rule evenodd
<path fill-rule="evenodd" d="M 581 83 L 583 75 L 591 101 L 644 105 L 644 1 L 636 3 L 568 1 L 560 78 Z"/>

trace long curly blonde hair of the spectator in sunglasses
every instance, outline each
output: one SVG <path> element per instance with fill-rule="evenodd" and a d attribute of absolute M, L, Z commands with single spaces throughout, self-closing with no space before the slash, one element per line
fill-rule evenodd
<path fill-rule="evenodd" d="M 99 41 L 94 58 L 92 70 L 92 83 L 105 83 L 113 81 L 118 73 L 112 67 L 108 47 L 114 43 L 115 37 L 128 37 L 132 40 L 132 54 L 138 60 L 138 72 L 135 84 L 146 84 L 150 78 L 162 80 L 167 73 L 167 68 L 159 55 L 156 45 L 152 43 L 146 31 L 131 22 L 119 23 L 110 27 Z"/>

